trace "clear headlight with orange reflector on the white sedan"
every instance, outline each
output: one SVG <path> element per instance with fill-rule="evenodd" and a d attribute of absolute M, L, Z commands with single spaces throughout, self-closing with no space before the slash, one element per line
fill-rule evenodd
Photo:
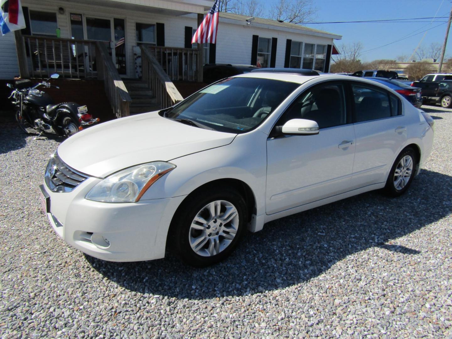
<path fill-rule="evenodd" d="M 157 179 L 176 166 L 164 161 L 126 168 L 94 186 L 86 199 L 102 202 L 137 202 Z"/>

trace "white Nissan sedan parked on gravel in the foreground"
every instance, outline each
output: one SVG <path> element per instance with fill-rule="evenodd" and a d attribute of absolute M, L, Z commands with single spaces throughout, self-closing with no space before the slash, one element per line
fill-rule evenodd
<path fill-rule="evenodd" d="M 374 81 L 298 73 L 237 75 L 70 137 L 41 185 L 53 229 L 104 260 L 163 258 L 168 246 L 206 266 L 245 228 L 374 189 L 404 193 L 433 119 Z"/>

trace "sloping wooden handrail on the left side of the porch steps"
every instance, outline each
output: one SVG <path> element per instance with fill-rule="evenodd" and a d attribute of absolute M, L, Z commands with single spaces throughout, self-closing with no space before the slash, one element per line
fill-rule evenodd
<path fill-rule="evenodd" d="M 130 115 L 130 98 L 127 88 L 119 76 L 118 70 L 113 64 L 112 57 L 108 54 L 107 46 L 102 42 L 96 42 L 97 77 L 104 80 L 105 93 L 112 105 L 117 118 Z"/>

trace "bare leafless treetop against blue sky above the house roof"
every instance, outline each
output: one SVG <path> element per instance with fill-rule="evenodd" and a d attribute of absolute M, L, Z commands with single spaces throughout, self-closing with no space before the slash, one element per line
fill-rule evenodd
<path fill-rule="evenodd" d="M 311 22 L 316 13 L 310 0 L 277 0 L 270 8 L 270 19 L 303 24 Z"/>

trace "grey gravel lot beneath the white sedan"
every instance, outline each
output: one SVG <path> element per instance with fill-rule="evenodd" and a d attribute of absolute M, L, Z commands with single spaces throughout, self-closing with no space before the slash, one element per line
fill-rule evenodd
<path fill-rule="evenodd" d="M 270 222 L 206 269 L 71 248 L 38 199 L 61 140 L 0 124 L 0 336 L 451 338 L 452 110 L 424 109 L 434 149 L 407 194 Z"/>

